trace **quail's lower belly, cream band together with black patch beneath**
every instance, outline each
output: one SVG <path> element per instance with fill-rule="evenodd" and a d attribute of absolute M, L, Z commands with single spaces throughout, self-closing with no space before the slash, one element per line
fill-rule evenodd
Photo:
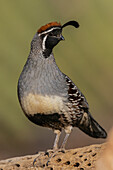
<path fill-rule="evenodd" d="M 59 96 L 29 93 L 22 98 L 21 106 L 28 119 L 37 125 L 60 130 L 68 124 L 62 112 L 65 107 L 63 99 Z"/>

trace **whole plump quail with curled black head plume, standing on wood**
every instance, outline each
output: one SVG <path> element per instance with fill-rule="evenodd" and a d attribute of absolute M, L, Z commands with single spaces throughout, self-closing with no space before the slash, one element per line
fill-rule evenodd
<path fill-rule="evenodd" d="M 58 68 L 52 50 L 61 41 L 63 26 L 51 22 L 42 26 L 31 42 L 31 51 L 18 81 L 18 98 L 25 115 L 33 123 L 52 128 L 56 134 L 53 149 L 58 148 L 62 129 L 66 141 L 73 127 L 94 138 L 106 138 L 106 131 L 93 119 L 88 103 L 72 80 Z"/>

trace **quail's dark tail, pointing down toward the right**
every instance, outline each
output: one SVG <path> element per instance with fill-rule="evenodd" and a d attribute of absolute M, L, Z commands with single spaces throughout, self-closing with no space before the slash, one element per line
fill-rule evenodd
<path fill-rule="evenodd" d="M 106 138 L 106 131 L 94 120 L 90 113 L 84 113 L 79 129 L 94 138 Z"/>

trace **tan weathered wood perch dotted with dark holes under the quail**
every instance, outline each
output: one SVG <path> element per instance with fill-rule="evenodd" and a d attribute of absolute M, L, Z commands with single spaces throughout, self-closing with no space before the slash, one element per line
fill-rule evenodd
<path fill-rule="evenodd" d="M 41 152 L 40 155 L 27 155 L 22 157 L 10 158 L 0 161 L 0 170 L 40 170 L 40 169 L 96 169 L 96 160 L 103 153 L 106 144 L 86 146 L 83 148 L 66 150 L 65 153 L 58 152 L 51 159 L 48 166 L 44 167 L 48 160 L 48 155 Z M 36 167 L 33 167 L 33 160 L 37 157 Z"/>

